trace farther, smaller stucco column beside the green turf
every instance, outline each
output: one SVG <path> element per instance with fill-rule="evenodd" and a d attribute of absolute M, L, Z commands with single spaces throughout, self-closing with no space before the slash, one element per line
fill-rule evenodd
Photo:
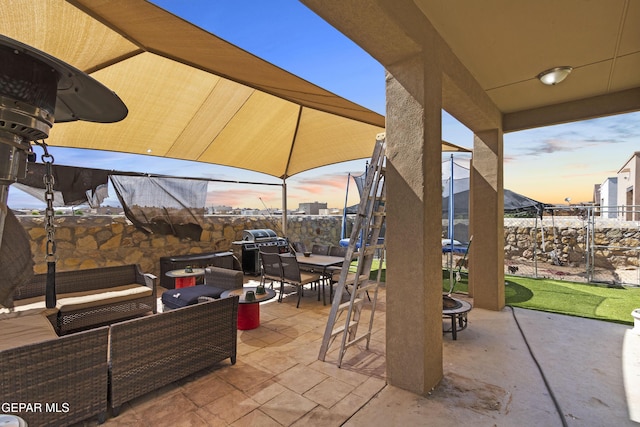
<path fill-rule="evenodd" d="M 471 164 L 469 289 L 475 307 L 502 310 L 504 296 L 504 192 L 502 131 L 476 132 Z"/>

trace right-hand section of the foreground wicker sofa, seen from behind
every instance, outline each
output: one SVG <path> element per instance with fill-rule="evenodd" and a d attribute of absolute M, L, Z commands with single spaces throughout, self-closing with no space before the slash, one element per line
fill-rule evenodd
<path fill-rule="evenodd" d="M 226 358 L 236 363 L 238 297 L 111 325 L 109 401 L 123 403 Z"/>

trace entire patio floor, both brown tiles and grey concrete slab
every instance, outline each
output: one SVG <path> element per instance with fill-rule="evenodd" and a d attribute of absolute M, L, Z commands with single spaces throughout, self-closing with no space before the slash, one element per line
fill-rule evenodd
<path fill-rule="evenodd" d="M 247 279 L 255 285 L 254 277 Z M 640 419 L 640 335 L 628 325 L 473 309 L 457 341 L 444 337 L 441 385 L 419 396 L 385 381 L 384 286 L 369 350 L 364 343 L 349 349 L 342 368 L 338 343 L 325 362 L 318 360 L 330 306 L 317 301 L 315 291 L 305 291 L 299 309 L 296 300 L 293 294 L 261 305 L 261 326 L 238 331 L 235 365 L 221 362 L 129 402 L 104 425 L 563 425 L 529 345 L 565 425 L 638 425 L 630 414 Z M 625 391 L 625 381 L 635 388 Z"/>

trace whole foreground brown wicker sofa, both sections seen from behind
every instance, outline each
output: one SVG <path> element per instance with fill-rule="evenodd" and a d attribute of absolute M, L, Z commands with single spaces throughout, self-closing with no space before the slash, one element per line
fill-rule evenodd
<path fill-rule="evenodd" d="M 15 348 L 0 346 L 2 412 L 34 426 L 71 425 L 95 415 L 102 423 L 109 406 L 118 415 L 136 397 L 226 358 L 234 364 L 237 313 L 238 297 L 230 297 Z M 20 403 L 31 406 L 10 406 Z"/>

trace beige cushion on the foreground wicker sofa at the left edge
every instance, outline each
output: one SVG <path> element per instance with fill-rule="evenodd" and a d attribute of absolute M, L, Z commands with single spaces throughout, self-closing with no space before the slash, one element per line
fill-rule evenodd
<path fill-rule="evenodd" d="M 0 350 L 58 338 L 48 310 L 29 310 L 0 315 Z"/>

